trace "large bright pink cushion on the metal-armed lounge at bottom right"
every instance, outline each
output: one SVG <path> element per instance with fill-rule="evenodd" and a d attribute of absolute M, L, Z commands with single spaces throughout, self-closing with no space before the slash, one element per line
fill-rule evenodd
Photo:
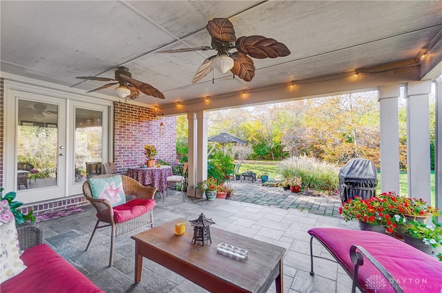
<path fill-rule="evenodd" d="M 404 292 L 439 292 L 442 289 L 442 263 L 416 248 L 378 232 L 338 228 L 313 228 L 308 231 L 330 251 L 343 268 L 353 275 L 350 247 L 361 245 L 390 272 Z M 357 250 L 356 250 L 357 251 Z M 380 277 L 385 287 L 370 286 Z M 387 279 L 365 258 L 358 270 L 358 285 L 365 292 L 394 292 Z M 437 290 L 435 290 L 437 288 Z"/>

